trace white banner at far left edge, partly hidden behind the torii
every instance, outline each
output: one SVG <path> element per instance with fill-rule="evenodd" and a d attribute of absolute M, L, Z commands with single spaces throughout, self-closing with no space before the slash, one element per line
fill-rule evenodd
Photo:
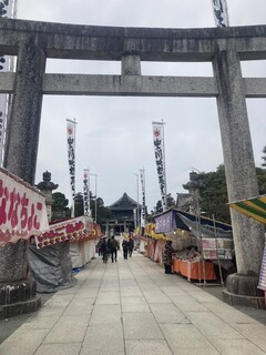
<path fill-rule="evenodd" d="M 0 0 L 0 18 L 14 17 L 16 0 Z M 9 71 L 11 64 L 11 57 L 0 53 L 0 72 Z M 8 95 L 0 94 L 0 165 L 2 165 L 3 150 L 4 150 L 4 132 L 7 126 L 8 115 Z"/>

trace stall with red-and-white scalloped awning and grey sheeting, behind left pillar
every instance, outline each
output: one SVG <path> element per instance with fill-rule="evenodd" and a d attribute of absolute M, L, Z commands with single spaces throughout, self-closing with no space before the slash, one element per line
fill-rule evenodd
<path fill-rule="evenodd" d="M 94 257 L 100 226 L 89 216 L 51 223 L 50 230 L 35 235 L 30 244 L 30 272 L 38 292 L 54 292 L 73 286 L 72 268 L 82 267 Z"/>

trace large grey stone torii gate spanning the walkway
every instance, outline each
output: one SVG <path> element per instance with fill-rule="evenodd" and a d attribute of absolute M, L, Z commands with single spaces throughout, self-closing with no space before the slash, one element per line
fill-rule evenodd
<path fill-rule="evenodd" d="M 17 71 L 0 73 L 0 93 L 13 94 L 4 168 L 24 181 L 34 184 L 43 94 L 214 97 L 228 200 L 258 194 L 245 98 L 266 98 L 266 79 L 243 78 L 241 60 L 266 59 L 266 26 L 149 29 L 0 19 L 0 53 L 18 55 Z M 121 61 L 121 75 L 47 74 L 48 58 Z M 144 77 L 142 61 L 208 61 L 214 75 Z M 227 280 L 225 298 L 257 304 L 264 229 L 237 211 L 231 213 L 238 273 Z M 1 253 L 7 257 L 4 248 Z M 16 283 L 0 268 L 0 283 L 10 281 Z"/>

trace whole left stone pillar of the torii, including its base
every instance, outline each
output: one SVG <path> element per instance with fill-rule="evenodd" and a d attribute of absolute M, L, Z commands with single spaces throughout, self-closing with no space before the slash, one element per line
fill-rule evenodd
<path fill-rule="evenodd" d="M 44 51 L 35 43 L 19 48 L 11 112 L 8 119 L 4 168 L 34 185 L 42 105 Z M 35 311 L 35 283 L 27 278 L 28 241 L 0 250 L 0 318 Z"/>

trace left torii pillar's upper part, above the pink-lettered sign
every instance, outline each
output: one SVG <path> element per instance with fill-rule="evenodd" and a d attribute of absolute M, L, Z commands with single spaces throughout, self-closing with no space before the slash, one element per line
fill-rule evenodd
<path fill-rule="evenodd" d="M 32 40 L 20 44 L 3 165 L 31 185 L 35 180 L 44 69 L 43 49 Z"/>

